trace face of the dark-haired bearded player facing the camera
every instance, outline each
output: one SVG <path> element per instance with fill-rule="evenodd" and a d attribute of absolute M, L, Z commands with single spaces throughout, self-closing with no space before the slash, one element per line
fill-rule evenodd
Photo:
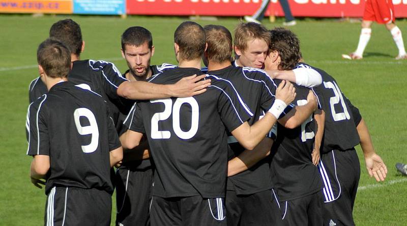
<path fill-rule="evenodd" d="M 151 76 L 150 61 L 154 55 L 154 46 L 150 49 L 148 43 L 141 46 L 125 45 L 122 56 L 133 76 L 148 78 Z"/>

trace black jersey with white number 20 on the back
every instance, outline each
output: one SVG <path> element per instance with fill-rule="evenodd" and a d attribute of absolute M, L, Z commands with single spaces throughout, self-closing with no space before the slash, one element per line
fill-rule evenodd
<path fill-rule="evenodd" d="M 196 68 L 175 68 L 150 81 L 171 84 Z M 148 137 L 156 164 L 153 194 L 160 197 L 224 197 L 227 175 L 227 134 L 252 113 L 232 84 L 207 76 L 205 93 L 188 98 L 139 101 L 125 124 Z"/>

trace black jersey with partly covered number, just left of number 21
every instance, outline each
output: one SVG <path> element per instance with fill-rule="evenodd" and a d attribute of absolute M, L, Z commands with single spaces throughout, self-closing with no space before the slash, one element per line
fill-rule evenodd
<path fill-rule="evenodd" d="M 275 81 L 279 83 L 279 80 Z M 293 104 L 306 104 L 309 89 L 295 84 L 294 87 L 297 95 Z M 316 95 L 321 103 L 321 95 L 317 93 Z M 321 105 L 318 107 L 321 108 Z M 315 124 L 312 115 L 294 129 L 277 124 L 277 138 L 271 151 L 270 172 L 280 201 L 301 198 L 322 189 L 321 176 L 318 168 L 312 164 L 311 157 L 316 133 Z"/>

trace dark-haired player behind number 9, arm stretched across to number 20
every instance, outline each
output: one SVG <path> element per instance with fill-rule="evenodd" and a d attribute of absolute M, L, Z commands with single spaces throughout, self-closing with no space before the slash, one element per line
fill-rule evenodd
<path fill-rule="evenodd" d="M 207 81 L 197 82 L 203 77 L 191 76 L 181 80 L 178 84 L 156 85 L 143 81 L 129 82 L 123 78 L 119 69 L 110 62 L 95 60 L 80 60 L 80 53 L 84 50 L 84 41 L 79 24 L 71 19 L 57 21 L 52 24 L 49 36 L 60 40 L 71 52 L 72 70 L 70 81 L 75 84 L 86 84 L 106 100 L 120 101 L 120 97 L 127 99 L 151 99 L 170 96 L 187 97 L 205 92 Z M 203 90 L 202 90 L 203 89 Z M 39 78 L 30 84 L 30 102 L 46 93 L 47 90 Z M 114 116 L 114 115 L 113 115 Z M 113 117 L 117 119 L 117 117 Z M 116 122 L 116 120 L 115 120 Z"/>

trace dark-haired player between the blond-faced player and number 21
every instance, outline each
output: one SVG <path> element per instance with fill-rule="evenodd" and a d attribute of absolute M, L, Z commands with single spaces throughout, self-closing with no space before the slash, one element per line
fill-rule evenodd
<path fill-rule="evenodd" d="M 266 68 L 290 70 L 301 59 L 298 39 L 286 45 L 279 33 L 271 32 L 270 53 Z M 314 89 L 313 89 L 314 90 Z M 293 104 L 303 105 L 309 89 L 296 86 Z M 322 96 L 316 92 L 319 108 Z M 284 225 L 322 225 L 322 181 L 316 167 L 319 147 L 324 131 L 324 112 L 318 110 L 301 126 L 286 129 L 278 124 L 277 138 L 273 144 L 270 172 L 277 189 Z"/>

